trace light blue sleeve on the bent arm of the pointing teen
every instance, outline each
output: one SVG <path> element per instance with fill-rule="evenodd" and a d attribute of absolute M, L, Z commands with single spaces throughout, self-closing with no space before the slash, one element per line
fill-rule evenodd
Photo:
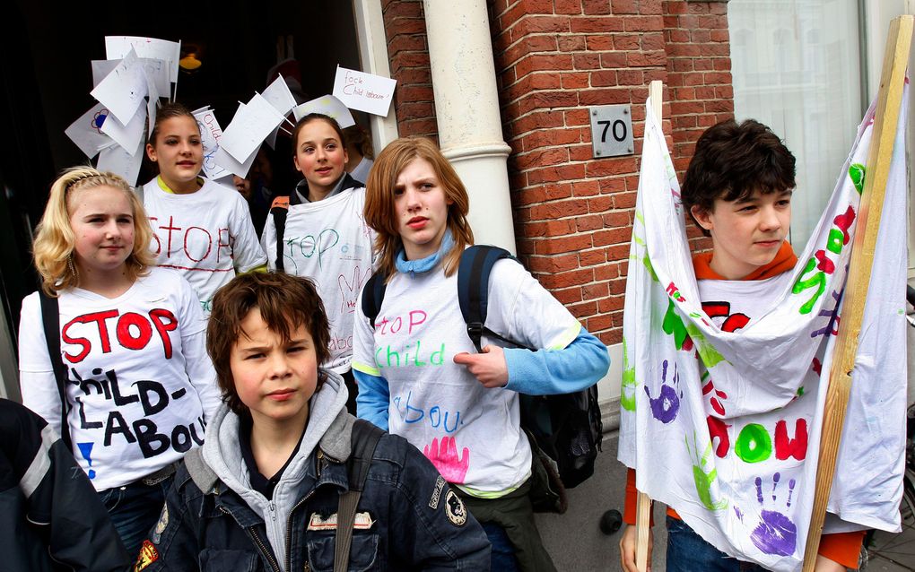
<path fill-rule="evenodd" d="M 570 394 L 597 383 L 610 367 L 607 346 L 584 328 L 561 350 L 504 351 L 509 370 L 505 387 L 519 394 Z"/>

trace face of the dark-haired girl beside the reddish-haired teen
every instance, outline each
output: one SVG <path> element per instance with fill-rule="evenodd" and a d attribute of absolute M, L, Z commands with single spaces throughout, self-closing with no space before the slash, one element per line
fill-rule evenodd
<path fill-rule="evenodd" d="M 308 189 L 322 195 L 333 190 L 347 158 L 337 130 L 328 122 L 315 119 L 299 129 L 293 162 L 308 181 Z"/>

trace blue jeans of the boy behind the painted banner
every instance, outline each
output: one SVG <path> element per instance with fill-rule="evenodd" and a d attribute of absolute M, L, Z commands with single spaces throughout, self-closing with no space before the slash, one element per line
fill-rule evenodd
<path fill-rule="evenodd" d="M 678 518 L 667 517 L 667 572 L 765 572 L 751 562 L 737 560 L 705 542 Z"/>

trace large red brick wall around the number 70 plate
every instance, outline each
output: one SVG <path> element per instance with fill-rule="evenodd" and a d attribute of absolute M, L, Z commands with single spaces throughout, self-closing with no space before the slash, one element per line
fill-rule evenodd
<path fill-rule="evenodd" d="M 492 0 L 519 254 L 605 343 L 622 339 L 648 83 L 664 82 L 676 166 L 729 116 L 727 4 Z M 683 29 L 687 28 L 687 29 Z M 635 155 L 592 156 L 587 106 L 632 105 Z"/>

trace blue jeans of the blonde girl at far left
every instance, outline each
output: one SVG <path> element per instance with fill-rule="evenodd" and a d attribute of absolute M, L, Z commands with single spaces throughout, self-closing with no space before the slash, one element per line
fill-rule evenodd
<path fill-rule="evenodd" d="M 140 546 L 158 522 L 171 482 L 172 477 L 168 477 L 155 485 L 146 485 L 141 479 L 99 492 L 114 530 L 132 558 L 140 554 Z"/>

